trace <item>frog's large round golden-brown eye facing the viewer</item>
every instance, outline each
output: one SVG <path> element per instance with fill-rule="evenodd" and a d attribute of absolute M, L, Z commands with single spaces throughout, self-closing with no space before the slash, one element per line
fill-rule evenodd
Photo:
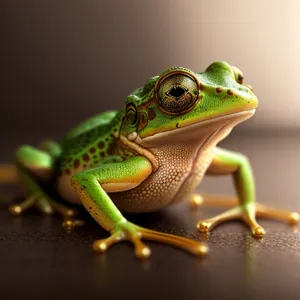
<path fill-rule="evenodd" d="M 159 106 L 166 112 L 184 113 L 196 103 L 199 87 L 189 74 L 170 74 L 163 78 L 157 87 L 156 97 Z"/>

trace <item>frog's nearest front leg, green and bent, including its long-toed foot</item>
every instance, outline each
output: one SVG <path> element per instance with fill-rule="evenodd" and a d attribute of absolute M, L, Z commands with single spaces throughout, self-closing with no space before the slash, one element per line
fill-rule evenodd
<path fill-rule="evenodd" d="M 208 248 L 204 243 L 130 223 L 108 196 L 107 192 L 135 188 L 151 173 L 152 165 L 149 160 L 143 156 L 135 156 L 122 162 L 103 164 L 72 177 L 72 186 L 84 207 L 98 224 L 111 233 L 110 237 L 94 242 L 94 250 L 103 252 L 113 244 L 125 240 L 133 243 L 137 257 L 146 258 L 150 255 L 150 249 L 141 240 L 147 239 L 177 246 L 193 254 L 205 254 Z"/>

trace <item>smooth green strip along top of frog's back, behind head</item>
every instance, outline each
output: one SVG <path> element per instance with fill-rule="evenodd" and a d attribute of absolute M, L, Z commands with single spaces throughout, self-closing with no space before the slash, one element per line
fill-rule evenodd
<path fill-rule="evenodd" d="M 63 138 L 62 144 L 68 144 L 71 140 L 95 127 L 108 124 L 117 113 L 117 111 L 106 111 L 81 122 L 79 125 L 67 132 Z"/>

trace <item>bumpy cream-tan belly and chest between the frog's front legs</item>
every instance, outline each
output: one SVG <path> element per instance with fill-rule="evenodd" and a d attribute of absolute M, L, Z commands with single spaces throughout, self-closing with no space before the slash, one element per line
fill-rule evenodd
<path fill-rule="evenodd" d="M 110 196 L 114 203 L 123 212 L 149 212 L 185 199 L 193 186 L 201 182 L 213 157 L 210 149 L 196 163 L 197 170 L 194 170 L 195 157 L 189 150 L 191 151 L 179 146 L 176 153 L 165 157 L 159 169 L 138 187 L 126 192 L 112 193 Z"/>

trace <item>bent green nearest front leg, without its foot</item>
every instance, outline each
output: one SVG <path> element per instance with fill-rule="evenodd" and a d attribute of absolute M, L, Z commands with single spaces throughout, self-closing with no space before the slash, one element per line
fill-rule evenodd
<path fill-rule="evenodd" d="M 72 177 L 71 184 L 91 216 L 103 228 L 111 231 L 124 217 L 107 192 L 133 189 L 151 173 L 151 163 L 142 156 L 136 156 L 77 173 Z"/>

